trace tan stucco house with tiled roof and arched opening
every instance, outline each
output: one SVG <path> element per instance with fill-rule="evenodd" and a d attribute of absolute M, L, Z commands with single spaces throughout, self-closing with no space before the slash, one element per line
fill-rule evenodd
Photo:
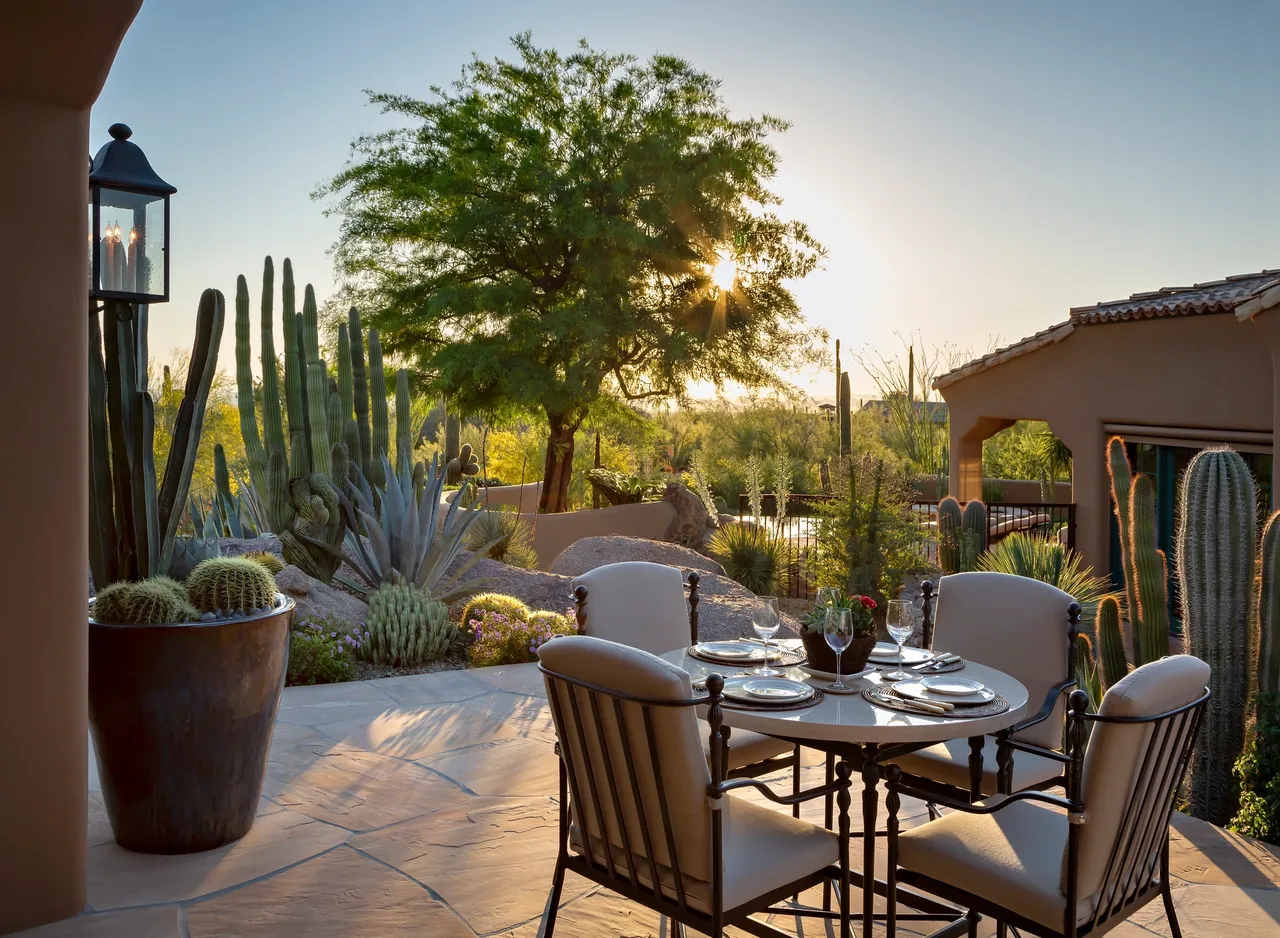
<path fill-rule="evenodd" d="M 951 493 L 982 495 L 982 441 L 1047 421 L 1071 449 L 1076 548 L 1112 569 L 1105 447 L 1120 434 L 1156 482 L 1171 546 L 1178 473 L 1197 449 L 1230 444 L 1263 493 L 1280 435 L 1280 269 L 1073 308 L 1066 321 L 940 376 L 951 412 Z M 1267 311 L 1271 310 L 1268 314 Z"/>

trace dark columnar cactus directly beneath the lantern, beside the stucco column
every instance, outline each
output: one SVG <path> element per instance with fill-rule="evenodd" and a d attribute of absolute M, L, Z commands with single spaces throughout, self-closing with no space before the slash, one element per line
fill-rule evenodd
<path fill-rule="evenodd" d="M 209 390 L 218 370 L 225 301 L 205 290 L 196 344 L 174 421 L 163 481 L 152 443 L 155 403 L 146 390 L 146 322 L 136 307 L 108 302 L 102 325 L 90 315 L 90 566 L 93 581 L 166 573 L 187 509 Z"/>

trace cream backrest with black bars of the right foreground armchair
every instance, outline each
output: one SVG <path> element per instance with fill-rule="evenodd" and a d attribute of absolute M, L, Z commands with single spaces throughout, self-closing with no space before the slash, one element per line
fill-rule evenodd
<path fill-rule="evenodd" d="M 1079 800 L 1079 898 L 1096 921 L 1149 888 L 1207 700 L 1210 667 L 1192 655 L 1144 664 L 1102 699 L 1084 754 Z M 1064 870 L 1065 877 L 1065 870 Z"/>

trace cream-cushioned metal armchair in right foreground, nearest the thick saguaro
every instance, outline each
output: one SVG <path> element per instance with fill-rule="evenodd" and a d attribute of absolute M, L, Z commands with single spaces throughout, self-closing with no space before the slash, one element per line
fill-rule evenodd
<path fill-rule="evenodd" d="M 904 795 L 925 795 L 888 767 L 888 938 L 896 884 L 1042 938 L 1084 938 L 1120 924 L 1157 894 L 1174 938 L 1169 819 L 1208 700 L 1210 668 L 1175 655 L 1130 672 L 1097 714 L 1071 692 L 1066 797 L 1020 791 L 979 804 L 940 801 L 945 818 L 899 831 Z"/>

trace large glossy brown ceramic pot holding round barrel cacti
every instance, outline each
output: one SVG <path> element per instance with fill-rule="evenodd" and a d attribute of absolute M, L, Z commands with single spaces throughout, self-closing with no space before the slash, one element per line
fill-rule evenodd
<path fill-rule="evenodd" d="M 289 656 L 294 603 L 276 601 L 169 626 L 90 618 L 90 729 L 122 847 L 193 854 L 253 825 Z"/>

